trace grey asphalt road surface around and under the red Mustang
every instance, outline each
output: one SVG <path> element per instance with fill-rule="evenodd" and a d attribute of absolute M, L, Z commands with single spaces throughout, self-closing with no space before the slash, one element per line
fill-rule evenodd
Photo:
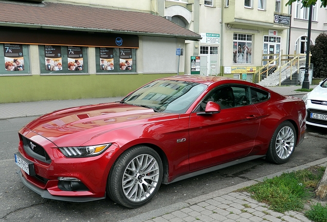
<path fill-rule="evenodd" d="M 110 199 L 84 203 L 54 201 L 30 191 L 16 174 L 19 168 L 13 154 L 19 141 L 17 131 L 32 119 L 0 120 L 0 221 L 119 221 L 327 156 L 327 130 L 308 127 L 304 142 L 285 164 L 257 159 L 162 185 L 148 205 L 137 209 L 126 209 Z"/>

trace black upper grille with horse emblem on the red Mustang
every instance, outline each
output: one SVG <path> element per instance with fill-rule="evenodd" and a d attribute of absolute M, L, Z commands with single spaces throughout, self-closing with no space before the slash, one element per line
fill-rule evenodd
<path fill-rule="evenodd" d="M 48 163 L 51 162 L 49 155 L 45 152 L 42 146 L 27 139 L 22 135 L 20 136 L 22 137 L 23 140 L 24 150 L 26 151 L 26 153 L 28 153 L 28 155 L 44 162 L 48 162 Z"/>

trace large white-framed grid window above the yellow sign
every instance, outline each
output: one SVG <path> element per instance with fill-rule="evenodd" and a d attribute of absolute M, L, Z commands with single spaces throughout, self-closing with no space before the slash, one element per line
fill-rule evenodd
<path fill-rule="evenodd" d="M 252 35 L 233 35 L 233 63 L 251 63 L 252 59 Z"/>

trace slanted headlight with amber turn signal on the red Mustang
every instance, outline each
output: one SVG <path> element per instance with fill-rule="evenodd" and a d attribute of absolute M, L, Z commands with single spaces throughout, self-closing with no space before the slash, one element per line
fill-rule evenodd
<path fill-rule="evenodd" d="M 67 147 L 59 147 L 59 150 L 66 157 L 89 157 L 96 156 L 104 152 L 111 143 L 102 144 L 102 145 L 94 145 L 94 146 L 67 146 Z"/>

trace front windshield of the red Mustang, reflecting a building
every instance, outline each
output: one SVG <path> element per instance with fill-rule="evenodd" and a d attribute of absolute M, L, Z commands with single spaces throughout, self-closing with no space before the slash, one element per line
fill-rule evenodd
<path fill-rule="evenodd" d="M 139 88 L 121 102 L 153 108 L 155 112 L 185 113 L 206 88 L 201 83 L 156 80 Z"/>

